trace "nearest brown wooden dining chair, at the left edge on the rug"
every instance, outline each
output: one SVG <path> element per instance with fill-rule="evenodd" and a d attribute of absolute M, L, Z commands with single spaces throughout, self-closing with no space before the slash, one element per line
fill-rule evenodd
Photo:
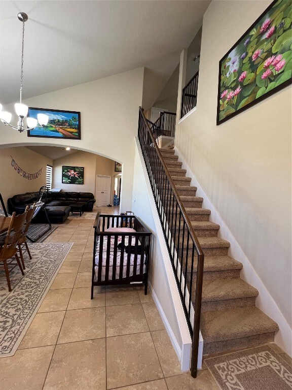
<path fill-rule="evenodd" d="M 18 255 L 17 255 L 17 249 L 18 249 L 17 245 L 18 245 L 18 241 L 22 235 L 23 226 L 24 226 L 24 223 L 26 220 L 26 214 L 27 214 L 27 211 L 25 211 L 23 214 L 20 214 L 17 216 L 16 216 L 15 212 L 12 214 L 11 222 L 10 222 L 10 225 L 8 228 L 7 235 L 5 237 L 3 246 L 0 248 L 0 263 L 3 262 L 3 264 L 4 264 L 4 270 L 5 270 L 5 275 L 6 275 L 9 291 L 11 291 L 9 272 L 12 271 L 18 265 L 22 275 L 24 275 L 24 272 L 23 272 L 23 269 L 21 266 L 21 262 L 19 260 Z M 10 258 L 13 258 L 13 257 L 16 258 L 17 264 L 12 263 L 12 261 L 10 263 L 7 262 Z M 10 265 L 13 265 L 14 267 L 12 267 L 9 270 L 8 266 L 10 266 Z"/>

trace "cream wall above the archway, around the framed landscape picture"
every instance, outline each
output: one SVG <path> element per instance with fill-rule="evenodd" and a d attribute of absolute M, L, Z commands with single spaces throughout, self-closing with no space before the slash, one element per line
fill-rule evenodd
<path fill-rule="evenodd" d="M 22 145 L 70 146 L 123 164 L 121 208 L 132 200 L 134 136 L 142 104 L 143 68 L 26 99 L 30 107 L 81 112 L 81 140 L 28 138 L 0 123 L 0 148 Z M 24 91 L 25 93 L 25 91 Z M 13 105 L 5 107 L 14 112 Z M 14 116 L 14 121 L 16 120 Z"/>

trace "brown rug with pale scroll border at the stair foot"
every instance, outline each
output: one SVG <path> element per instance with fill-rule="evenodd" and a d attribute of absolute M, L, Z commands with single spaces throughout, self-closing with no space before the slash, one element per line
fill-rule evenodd
<path fill-rule="evenodd" d="M 222 390 L 288 390 L 292 368 L 268 345 L 206 359 Z"/>

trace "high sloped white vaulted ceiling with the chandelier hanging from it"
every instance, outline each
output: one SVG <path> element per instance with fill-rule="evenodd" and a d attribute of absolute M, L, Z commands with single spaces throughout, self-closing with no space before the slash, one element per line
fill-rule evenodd
<path fill-rule="evenodd" d="M 0 102 L 147 67 L 167 79 L 202 25 L 209 0 L 0 2 Z"/>

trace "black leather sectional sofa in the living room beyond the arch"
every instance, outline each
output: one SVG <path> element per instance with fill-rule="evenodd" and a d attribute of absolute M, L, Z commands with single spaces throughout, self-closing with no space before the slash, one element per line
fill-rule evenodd
<path fill-rule="evenodd" d="M 12 214 L 24 212 L 27 205 L 32 205 L 39 200 L 38 192 L 26 192 L 8 199 L 8 210 Z M 70 205 L 83 203 L 83 211 L 92 211 L 95 203 L 94 195 L 91 192 L 48 192 L 45 208 L 51 223 L 64 222 L 71 211 Z M 41 210 L 34 218 L 34 223 L 47 222 L 45 212 Z"/>

